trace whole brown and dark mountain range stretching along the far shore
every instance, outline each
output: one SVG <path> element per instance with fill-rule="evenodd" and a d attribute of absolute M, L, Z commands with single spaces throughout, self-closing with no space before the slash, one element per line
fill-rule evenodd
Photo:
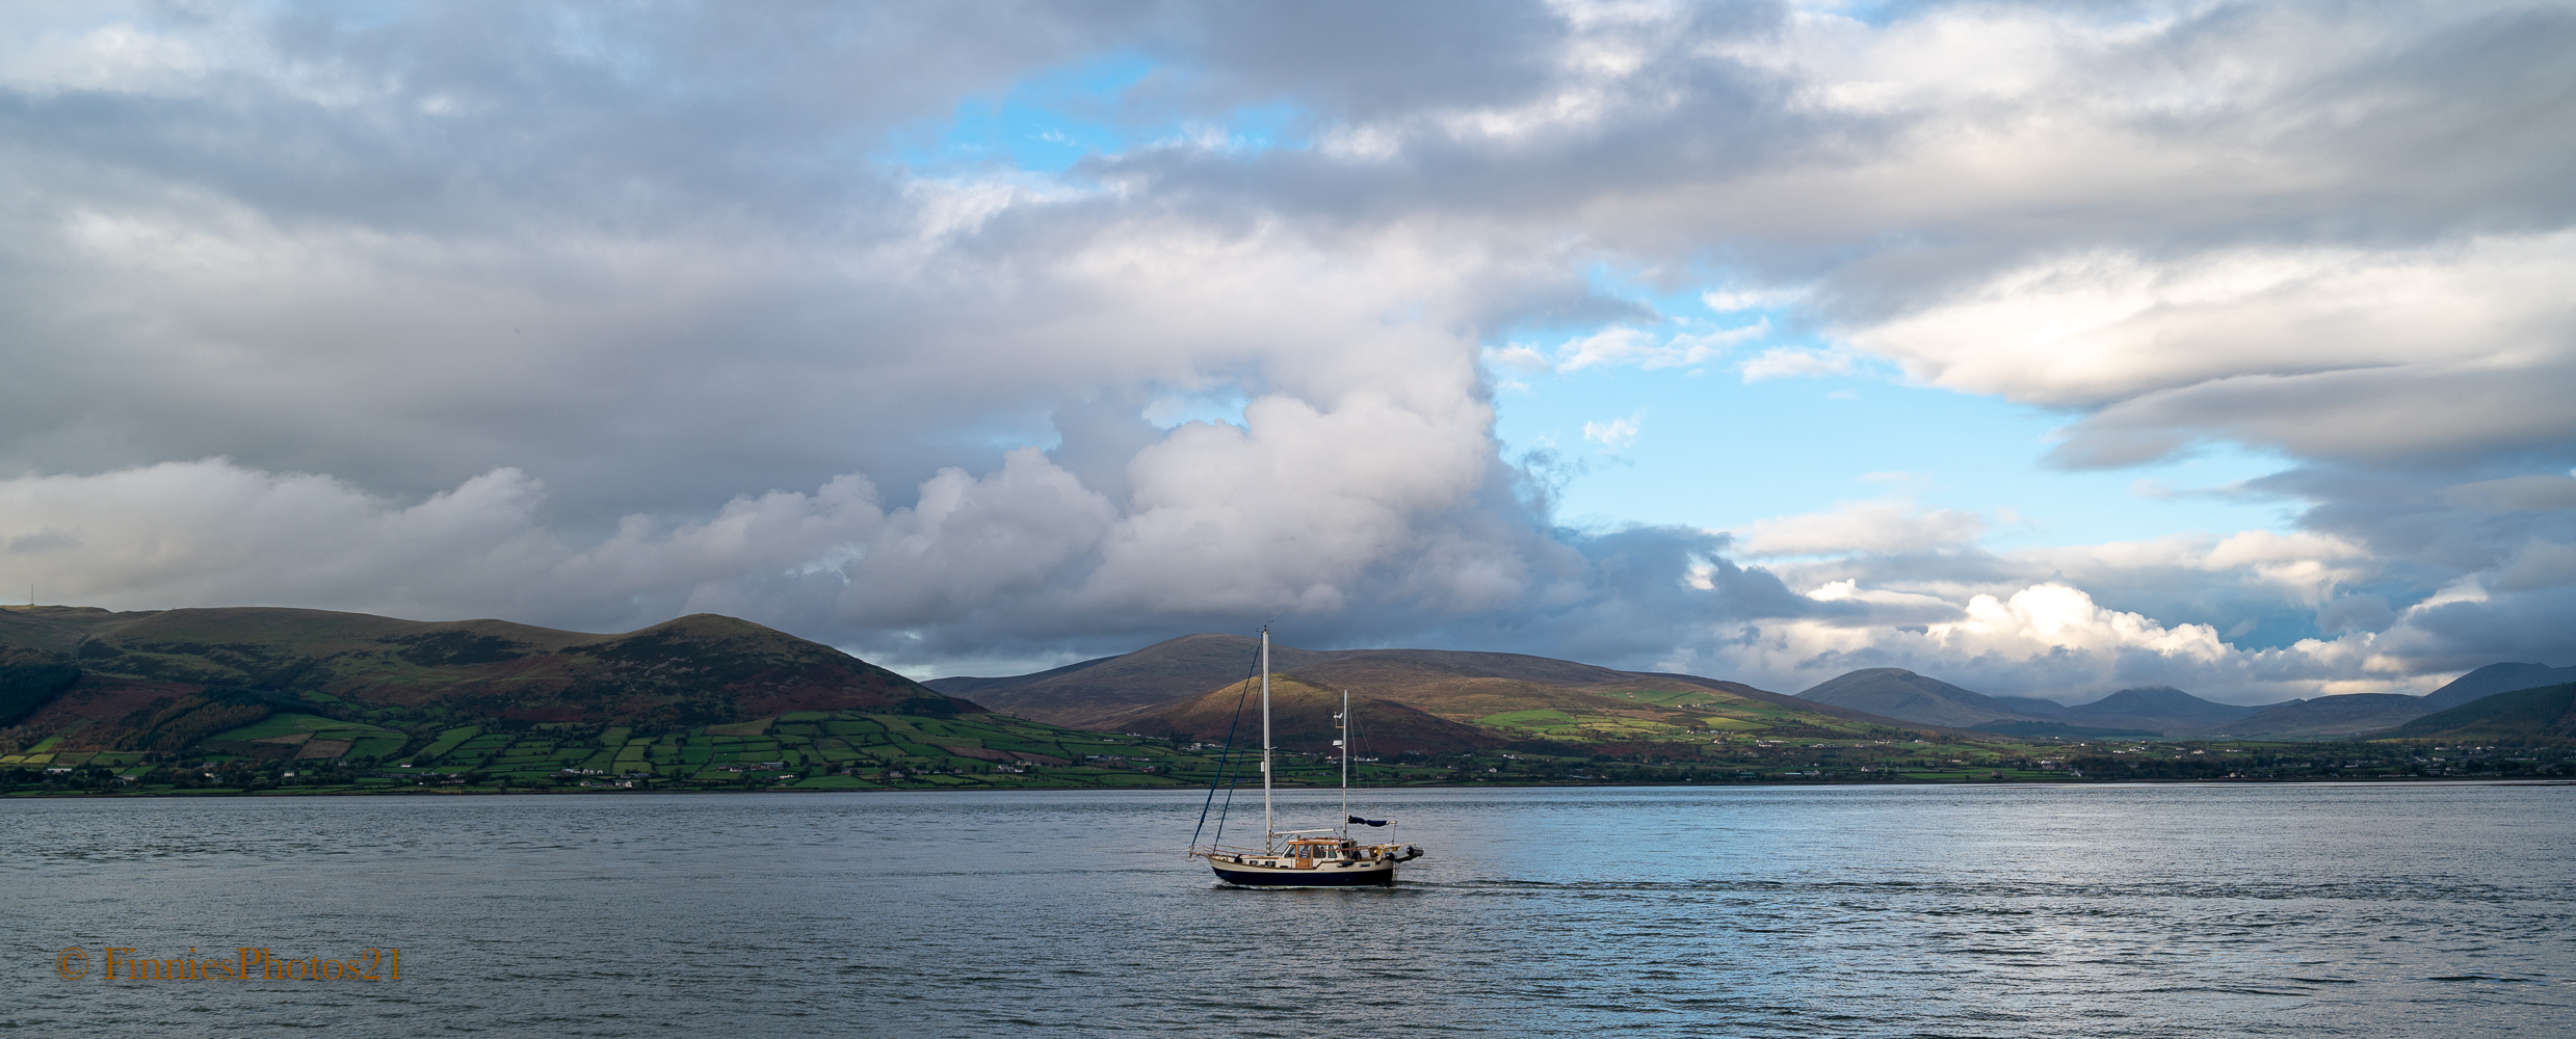
<path fill-rule="evenodd" d="M 0 610 L 0 754 L 180 754 L 330 730 L 410 756 L 433 733 L 592 728 L 670 733 L 791 712 L 1033 723 L 1247 746 L 1257 640 L 1185 635 L 1020 676 L 927 684 L 747 620 L 690 615 L 618 635 L 502 620 L 412 622 L 322 610 Z M 2267 707 L 2172 687 L 2087 705 L 1989 697 L 1904 669 L 1862 669 L 1801 694 L 1695 674 L 1618 671 L 1522 653 L 1273 646 L 1278 746 L 1324 751 L 1347 689 L 1355 748 L 1455 754 L 1698 756 L 1710 743 L 2061 738 L 2344 738 L 2506 733 L 2555 738 L 2555 700 L 2530 689 L 2576 669 L 2491 664 L 2427 697 L 2344 694 Z M 2517 700 L 2519 697 L 2519 700 Z M 265 736 L 245 736 L 252 728 Z M 2427 728 L 2432 725 L 2432 728 Z M 2504 738 L 2504 736 L 2496 736 Z M 28 751 L 33 754 L 33 751 Z"/>

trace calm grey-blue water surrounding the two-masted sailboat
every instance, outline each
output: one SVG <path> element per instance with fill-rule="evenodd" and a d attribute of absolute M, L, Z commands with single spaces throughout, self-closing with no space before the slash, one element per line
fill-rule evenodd
<path fill-rule="evenodd" d="M 2576 1034 L 2576 787 L 1363 805 L 1430 849 L 1396 890 L 1216 887 L 1175 792 L 18 800 L 0 1031 Z M 72 982 L 62 946 L 402 980 Z"/>

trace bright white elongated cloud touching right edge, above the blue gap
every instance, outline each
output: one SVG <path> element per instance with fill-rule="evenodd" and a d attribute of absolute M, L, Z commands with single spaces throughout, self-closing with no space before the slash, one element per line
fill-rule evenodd
<path fill-rule="evenodd" d="M 2576 352 L 2566 339 L 2576 301 L 2558 291 L 2571 280 L 2576 231 L 2416 249 L 2092 252 L 2002 273 L 1847 337 L 1932 386 L 2032 404 L 2388 365 L 2532 373 Z M 2473 435 L 2496 422 L 2522 419 L 2450 424 Z M 2447 440 L 2421 427 L 2403 435 Z"/>

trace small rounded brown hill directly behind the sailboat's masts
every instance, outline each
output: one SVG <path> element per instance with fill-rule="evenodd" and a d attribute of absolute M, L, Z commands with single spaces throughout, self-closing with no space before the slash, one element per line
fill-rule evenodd
<path fill-rule="evenodd" d="M 1285 751 L 1329 754 L 1332 741 L 1342 738 L 1340 723 L 1332 720 L 1340 710 L 1342 689 L 1270 679 L 1270 738 Z M 1502 743 L 1497 733 L 1484 728 L 1376 697 L 1350 697 L 1350 751 L 1358 756 L 1473 751 Z M 1234 682 L 1198 697 L 1108 715 L 1090 728 L 1193 743 L 1226 743 L 1231 730 L 1234 746 L 1262 746 L 1260 689 L 1257 682 Z"/>

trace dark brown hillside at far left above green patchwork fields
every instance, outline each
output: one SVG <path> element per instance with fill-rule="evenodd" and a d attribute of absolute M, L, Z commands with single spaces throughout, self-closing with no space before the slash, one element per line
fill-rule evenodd
<path fill-rule="evenodd" d="M 688 728 L 788 710 L 981 710 L 822 643 L 693 615 L 621 635 L 325 610 L 0 612 L 0 666 L 80 679 L 18 723 L 64 748 L 142 741 L 188 697 L 404 723 Z M 337 715 L 335 715 L 337 718 Z"/>

